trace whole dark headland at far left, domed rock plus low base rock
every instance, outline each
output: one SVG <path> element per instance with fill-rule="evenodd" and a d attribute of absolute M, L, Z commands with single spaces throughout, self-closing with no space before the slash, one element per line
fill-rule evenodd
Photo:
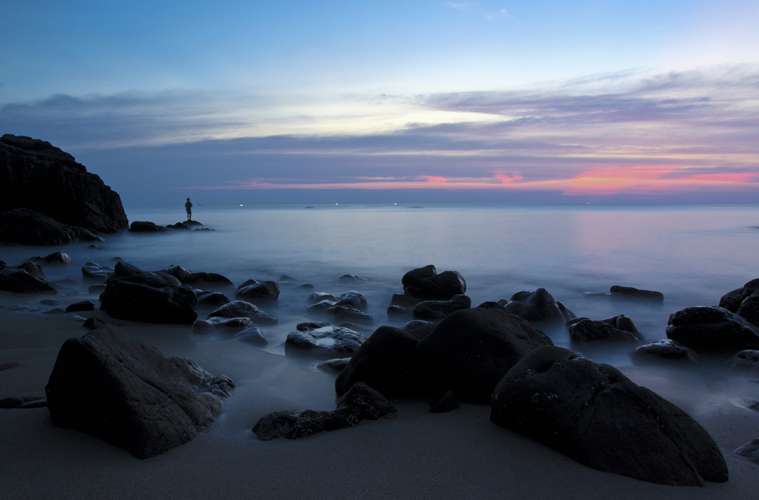
<path fill-rule="evenodd" d="M 0 241 L 61 245 L 126 229 L 119 195 L 49 142 L 0 137 Z"/>

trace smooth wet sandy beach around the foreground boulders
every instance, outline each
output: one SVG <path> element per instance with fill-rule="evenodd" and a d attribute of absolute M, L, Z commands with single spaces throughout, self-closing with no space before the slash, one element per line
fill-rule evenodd
<path fill-rule="evenodd" d="M 83 316 L 104 313 L 83 313 Z M 114 321 L 114 320 L 111 320 Z M 277 410 L 331 410 L 334 375 L 315 364 L 188 327 L 114 321 L 167 356 L 186 356 L 237 388 L 220 419 L 192 442 L 139 460 L 56 427 L 46 408 L 0 410 L 2 498 L 755 498 L 757 465 L 732 450 L 759 433 L 759 384 L 730 373 L 624 370 L 690 413 L 715 438 L 730 479 L 704 488 L 659 486 L 580 465 L 489 421 L 489 406 L 430 414 L 425 401 L 392 400 L 394 419 L 300 440 L 262 442 L 250 431 Z M 85 333 L 64 315 L 0 310 L 0 397 L 44 395 L 61 344 Z M 170 349 L 170 350 L 169 350 Z M 674 374 L 673 374 L 674 373 Z M 729 376 L 728 376 L 729 375 Z"/>

